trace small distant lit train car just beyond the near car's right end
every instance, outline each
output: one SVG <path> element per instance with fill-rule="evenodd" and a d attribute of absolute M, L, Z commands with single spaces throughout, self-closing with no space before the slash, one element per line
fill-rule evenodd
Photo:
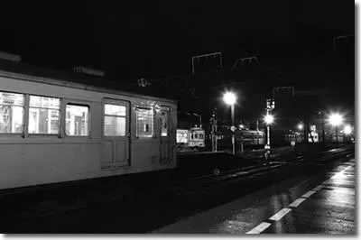
<path fill-rule="evenodd" d="M 205 131 L 201 127 L 177 129 L 178 152 L 204 151 Z"/>

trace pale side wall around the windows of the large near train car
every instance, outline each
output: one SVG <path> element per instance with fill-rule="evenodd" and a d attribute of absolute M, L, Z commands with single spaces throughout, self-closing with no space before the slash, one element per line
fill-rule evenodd
<path fill-rule="evenodd" d="M 171 129 L 176 125 L 174 113 L 177 108 L 174 103 L 152 100 L 152 97 L 147 99 L 131 95 L 120 96 L 31 82 L 26 79 L 0 77 L 0 92 L 4 91 L 23 94 L 27 103 L 26 106 L 22 106 L 23 110 L 18 111 L 18 114 L 23 114 L 23 126 L 19 125 L 22 124 L 21 121 L 13 123 L 13 127 L 19 129 L 23 127 L 24 131 L 15 134 L 0 134 L 0 189 L 176 167 L 175 130 Z M 29 134 L 32 131 L 39 132 L 44 127 L 29 125 L 31 121 L 38 123 L 44 112 L 42 107 L 29 106 L 31 96 L 60 99 L 60 108 L 48 109 L 52 113 L 48 112 L 46 116 L 46 119 L 51 119 L 53 115 L 59 115 L 59 118 L 53 122 L 49 119 L 49 121 L 43 120 L 48 127 L 56 125 L 59 121 L 59 133 L 54 130 L 55 127 L 53 129 L 55 134 Z M 111 102 L 114 105 L 125 104 L 126 115 L 106 115 L 105 98 L 115 99 L 115 102 Z M 1 104 L 2 102 L 0 106 Z M 162 126 L 161 122 L 156 120 L 159 119 L 157 109 L 155 109 L 158 105 L 170 106 L 170 119 L 167 120 L 169 125 L 166 126 L 169 128 L 167 129 L 169 139 L 163 149 Z M 154 115 L 153 120 L 150 121 L 153 124 L 153 136 L 149 139 L 137 136 L 135 106 L 146 106 L 152 109 Z M 20 109 L 19 106 L 16 107 Z M 0 125 L 4 124 L 1 124 L 1 121 L 8 121 L 5 111 L 10 108 L 4 105 L 3 108 L 5 110 L 2 110 L 4 115 L 0 119 Z M 105 127 L 111 126 L 111 124 L 106 125 L 106 116 L 109 116 L 107 120 L 113 119 L 120 123 L 119 125 L 125 124 L 126 127 L 123 128 L 125 133 L 122 132 L 119 137 L 106 138 Z M 150 125 L 151 122 L 147 123 Z M 139 126 L 144 127 L 144 124 Z M 157 133 L 160 135 L 158 136 Z M 169 156 L 162 159 L 165 150 Z"/>

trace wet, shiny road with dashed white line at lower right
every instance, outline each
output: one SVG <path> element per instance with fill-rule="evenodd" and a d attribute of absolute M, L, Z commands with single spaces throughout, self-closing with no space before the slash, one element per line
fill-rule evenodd
<path fill-rule="evenodd" d="M 355 234 L 355 160 L 283 180 L 153 234 Z"/>

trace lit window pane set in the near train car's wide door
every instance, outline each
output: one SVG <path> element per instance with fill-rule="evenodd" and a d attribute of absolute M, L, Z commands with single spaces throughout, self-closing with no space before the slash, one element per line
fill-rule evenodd
<path fill-rule="evenodd" d="M 125 136 L 125 116 L 125 106 L 104 105 L 104 135 Z"/>

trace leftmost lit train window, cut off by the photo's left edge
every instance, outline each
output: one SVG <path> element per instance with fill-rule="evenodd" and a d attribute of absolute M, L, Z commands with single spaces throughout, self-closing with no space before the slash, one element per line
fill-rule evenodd
<path fill-rule="evenodd" d="M 23 132 L 24 95 L 0 92 L 0 134 Z"/>

